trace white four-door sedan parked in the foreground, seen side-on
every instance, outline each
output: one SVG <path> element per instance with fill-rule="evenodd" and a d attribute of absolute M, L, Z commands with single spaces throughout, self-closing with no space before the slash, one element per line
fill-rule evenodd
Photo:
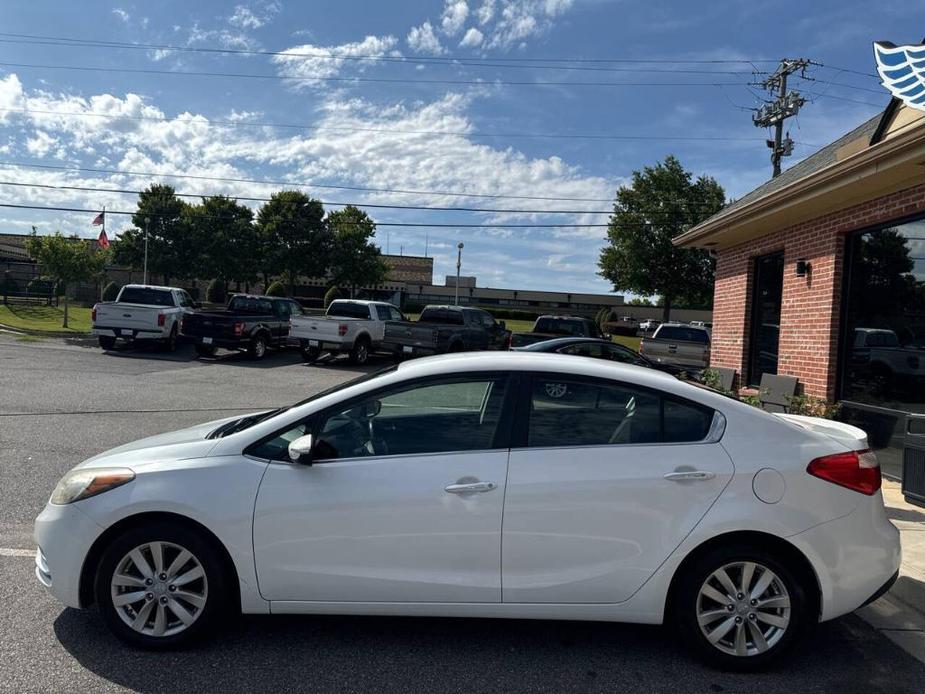
<path fill-rule="evenodd" d="M 239 611 L 670 622 L 755 669 L 895 579 L 866 449 L 652 369 L 434 357 L 85 461 L 36 575 L 150 648 Z"/>

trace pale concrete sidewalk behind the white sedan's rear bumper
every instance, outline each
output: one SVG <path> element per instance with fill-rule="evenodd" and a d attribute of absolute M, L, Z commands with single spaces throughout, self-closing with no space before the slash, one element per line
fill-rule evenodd
<path fill-rule="evenodd" d="M 899 528 L 903 560 L 899 579 L 858 615 L 925 663 L 925 508 L 907 504 L 898 482 L 883 480 L 887 514 Z"/>

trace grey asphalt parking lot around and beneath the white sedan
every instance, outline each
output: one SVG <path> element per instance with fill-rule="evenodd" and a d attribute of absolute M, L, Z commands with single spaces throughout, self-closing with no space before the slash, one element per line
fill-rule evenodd
<path fill-rule="evenodd" d="M 385 366 L 379 360 L 365 370 Z M 123 646 L 33 576 L 31 523 L 80 460 L 142 436 L 285 405 L 361 373 L 295 352 L 250 362 L 0 336 L 0 691 L 921 692 L 925 666 L 855 616 L 761 675 L 692 661 L 659 627 L 247 617 L 173 653 Z"/>

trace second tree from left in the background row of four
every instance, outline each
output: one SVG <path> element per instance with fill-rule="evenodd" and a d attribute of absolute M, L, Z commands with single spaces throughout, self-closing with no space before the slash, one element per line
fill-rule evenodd
<path fill-rule="evenodd" d="M 198 246 L 199 274 L 228 282 L 249 282 L 257 275 L 257 231 L 254 213 L 224 195 L 204 197 L 184 212 L 188 233 Z"/>

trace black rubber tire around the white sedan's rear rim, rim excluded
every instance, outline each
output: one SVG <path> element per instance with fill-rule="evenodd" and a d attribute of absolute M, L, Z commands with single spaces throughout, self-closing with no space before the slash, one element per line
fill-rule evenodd
<path fill-rule="evenodd" d="M 725 605 L 718 604 L 709 597 L 701 596 L 701 588 L 710 580 L 712 586 L 716 586 L 721 593 L 723 591 L 715 578 L 712 578 L 715 572 L 724 567 L 727 569 L 727 575 L 732 579 L 733 585 L 741 586 L 742 574 L 736 574 L 737 564 L 750 562 L 756 564 L 758 568 L 754 570 L 750 585 L 752 589 L 761 581 L 763 571 L 769 569 L 778 579 L 779 585 L 786 591 L 786 598 L 789 599 L 789 608 L 765 608 L 760 610 L 752 607 L 754 604 L 745 593 L 737 593 L 730 598 L 730 602 Z M 800 639 L 805 635 L 807 628 L 815 623 L 815 601 L 811 599 L 814 589 L 807 585 L 806 578 L 801 573 L 794 570 L 781 557 L 753 545 L 731 545 L 729 547 L 720 547 L 712 550 L 701 557 L 697 558 L 693 564 L 686 567 L 685 572 L 679 577 L 679 582 L 672 596 L 671 615 L 674 623 L 678 627 L 678 633 L 683 639 L 685 645 L 693 654 L 708 665 L 730 670 L 735 672 L 752 672 L 763 670 L 777 662 L 784 656 Z M 778 584 L 772 584 L 768 591 L 774 591 Z M 744 595 L 739 600 L 738 596 Z M 784 593 L 772 595 L 770 592 L 763 592 L 758 596 L 761 600 L 766 600 L 763 596 L 772 596 L 775 600 L 783 599 Z M 730 609 L 730 605 L 732 606 Z M 760 607 L 760 603 L 759 603 Z M 703 629 L 698 622 L 698 611 L 704 614 L 702 610 L 719 613 L 724 611 L 721 616 L 713 617 L 713 621 L 707 624 Z M 728 612 L 729 617 L 725 616 Z M 755 614 L 753 618 L 751 615 Z M 772 626 L 765 623 L 761 616 L 766 615 L 767 619 L 782 621 L 784 618 L 789 621 L 786 627 L 781 631 L 779 626 Z M 706 616 L 706 615 L 704 615 Z M 730 625 L 729 620 L 732 620 Z M 736 621 L 739 620 L 739 621 Z M 751 622 L 751 624 L 749 624 Z M 711 633 L 718 632 L 728 626 L 728 636 L 721 637 L 720 645 L 712 644 L 707 638 L 704 630 L 710 630 Z M 725 649 L 735 648 L 735 635 L 740 628 L 745 634 L 745 648 L 747 655 L 736 655 L 727 652 Z M 761 631 L 767 630 L 762 638 L 767 637 L 767 650 L 761 651 L 758 641 L 753 636 L 754 629 Z"/>

